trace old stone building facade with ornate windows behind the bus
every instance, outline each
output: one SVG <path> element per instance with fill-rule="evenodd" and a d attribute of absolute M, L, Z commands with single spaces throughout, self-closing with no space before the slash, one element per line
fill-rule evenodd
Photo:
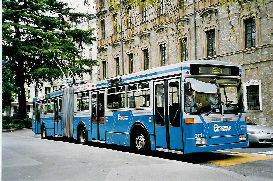
<path fill-rule="evenodd" d="M 167 1 L 160 1 L 163 5 L 160 12 L 150 5 L 144 10 L 137 7 L 139 16 L 130 14 L 130 21 L 135 25 L 132 40 L 126 40 L 131 31 L 127 27 L 132 22 L 122 27 L 122 65 L 121 31 L 113 23 L 114 17 L 118 16 L 120 24 L 120 12 L 110 7 L 106 0 L 97 0 L 98 79 L 122 75 L 123 71 L 128 74 L 195 59 L 240 64 L 247 117 L 258 124 L 273 126 L 273 1 L 266 2 L 268 20 L 263 8 L 260 13 L 249 15 L 249 12 L 231 6 L 231 22 L 239 36 L 237 42 L 228 41 L 231 28 L 225 7 L 219 6 L 217 0 L 195 0 L 194 20 L 193 1 L 185 2 L 188 9 L 179 17 L 184 25 L 182 36 L 187 48 L 183 43 L 182 46 L 177 43 L 171 29 L 166 31 L 167 25 L 151 21 L 155 17 L 160 20 L 160 14 L 168 12 L 168 6 L 164 4 Z M 171 3 L 177 4 L 177 0 Z"/>

